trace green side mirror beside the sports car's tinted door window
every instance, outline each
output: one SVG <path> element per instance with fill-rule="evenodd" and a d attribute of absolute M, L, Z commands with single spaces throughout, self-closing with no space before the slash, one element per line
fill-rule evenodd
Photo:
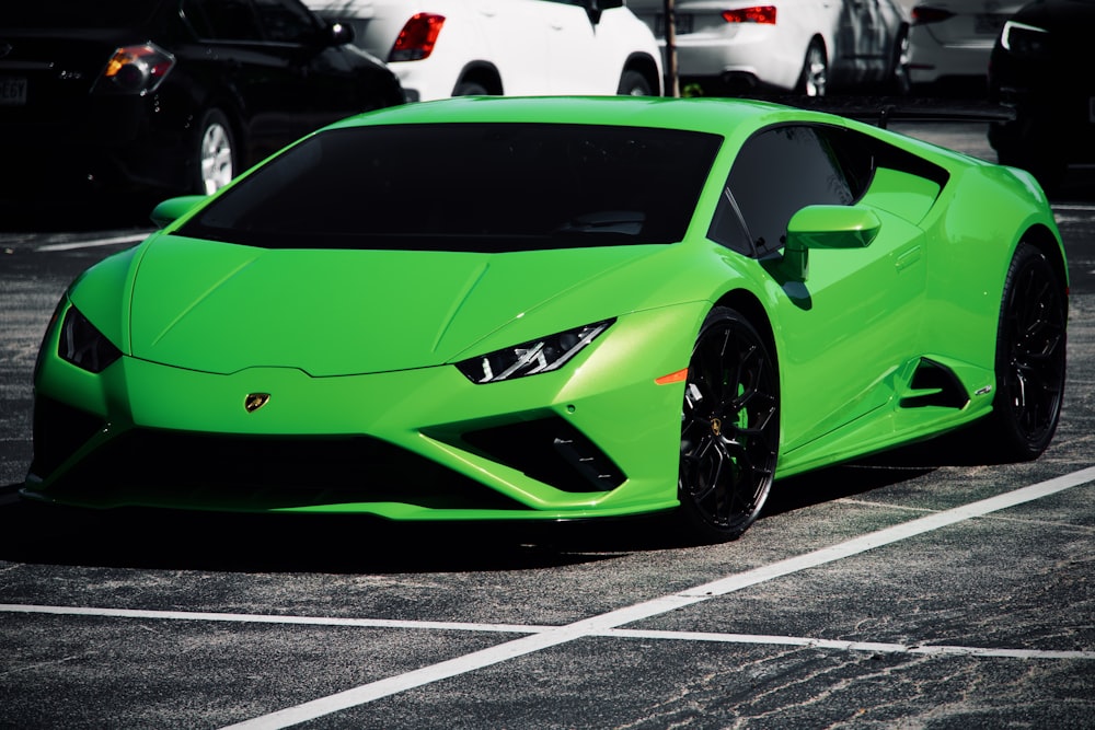
<path fill-rule="evenodd" d="M 807 206 L 791 217 L 780 268 L 792 281 L 806 281 L 810 248 L 865 248 L 883 223 L 858 206 Z"/>

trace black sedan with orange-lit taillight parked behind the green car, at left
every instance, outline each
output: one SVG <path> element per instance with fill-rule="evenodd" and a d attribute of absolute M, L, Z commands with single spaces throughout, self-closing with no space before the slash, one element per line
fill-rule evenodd
<path fill-rule="evenodd" d="M 299 0 L 50 0 L 0 12 L 0 199 L 209 193 L 320 126 L 399 104 Z"/>

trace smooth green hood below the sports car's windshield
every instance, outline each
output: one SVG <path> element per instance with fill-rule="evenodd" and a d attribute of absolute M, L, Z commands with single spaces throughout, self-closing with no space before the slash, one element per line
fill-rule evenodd
<path fill-rule="evenodd" d="M 625 302 L 603 275 L 662 248 L 301 251 L 159 235 L 134 277 L 129 345 L 137 358 L 218 373 L 425 368 L 502 334 L 517 344 L 618 314 Z M 566 297 L 577 291 L 580 301 Z"/>

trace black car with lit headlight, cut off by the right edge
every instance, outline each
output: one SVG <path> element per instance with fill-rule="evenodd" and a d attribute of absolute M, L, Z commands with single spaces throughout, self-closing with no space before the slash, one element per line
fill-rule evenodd
<path fill-rule="evenodd" d="M 1095 162 L 1095 0 L 1039 0 L 1006 23 L 989 63 L 989 97 L 1015 118 L 989 127 L 1000 162 L 1058 185 L 1071 163 Z"/>

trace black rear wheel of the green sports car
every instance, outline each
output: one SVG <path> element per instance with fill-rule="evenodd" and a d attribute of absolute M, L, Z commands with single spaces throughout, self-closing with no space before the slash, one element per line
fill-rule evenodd
<path fill-rule="evenodd" d="M 991 450 L 1005 461 L 1037 459 L 1057 430 L 1064 397 L 1067 294 L 1046 255 L 1015 251 L 996 336 Z"/>

